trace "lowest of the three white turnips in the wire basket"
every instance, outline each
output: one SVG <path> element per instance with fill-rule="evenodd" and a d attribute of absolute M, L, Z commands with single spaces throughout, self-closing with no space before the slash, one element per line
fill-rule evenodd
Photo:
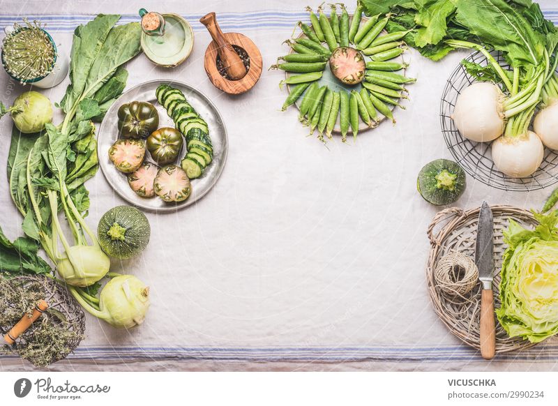
<path fill-rule="evenodd" d="M 500 172 L 513 178 L 525 178 L 543 162 L 544 146 L 532 131 L 515 137 L 499 137 L 492 143 L 492 160 Z"/>

